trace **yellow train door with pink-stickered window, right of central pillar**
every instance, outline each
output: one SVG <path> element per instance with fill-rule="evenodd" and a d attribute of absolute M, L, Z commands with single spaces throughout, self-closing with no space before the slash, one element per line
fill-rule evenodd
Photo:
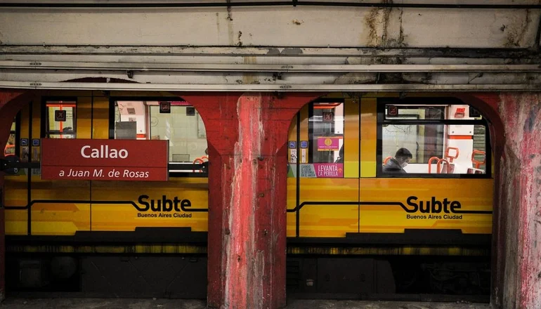
<path fill-rule="evenodd" d="M 297 114 L 288 143 L 288 237 L 358 232 L 358 101 L 326 99 Z"/>

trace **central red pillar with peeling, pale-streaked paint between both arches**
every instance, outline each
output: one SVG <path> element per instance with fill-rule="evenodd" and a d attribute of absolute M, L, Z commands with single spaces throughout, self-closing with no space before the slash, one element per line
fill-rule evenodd
<path fill-rule="evenodd" d="M 209 143 L 209 308 L 285 306 L 287 131 L 314 94 L 178 93 Z"/>

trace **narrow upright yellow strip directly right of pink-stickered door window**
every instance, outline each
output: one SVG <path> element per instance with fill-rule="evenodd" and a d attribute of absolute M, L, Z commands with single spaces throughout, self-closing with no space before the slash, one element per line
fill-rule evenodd
<path fill-rule="evenodd" d="M 346 99 L 344 104 L 344 177 L 359 177 L 359 103 Z"/>

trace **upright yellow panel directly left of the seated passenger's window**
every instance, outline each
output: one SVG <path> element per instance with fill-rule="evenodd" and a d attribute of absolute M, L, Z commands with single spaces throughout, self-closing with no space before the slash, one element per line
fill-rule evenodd
<path fill-rule="evenodd" d="M 360 175 L 376 176 L 377 109 L 375 98 L 363 98 L 360 105 Z"/>

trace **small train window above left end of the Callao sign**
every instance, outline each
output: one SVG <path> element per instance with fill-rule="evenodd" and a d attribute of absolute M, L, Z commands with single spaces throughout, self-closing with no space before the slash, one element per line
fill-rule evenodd
<path fill-rule="evenodd" d="M 75 101 L 48 100 L 45 103 L 46 138 L 77 137 L 77 103 Z"/>

